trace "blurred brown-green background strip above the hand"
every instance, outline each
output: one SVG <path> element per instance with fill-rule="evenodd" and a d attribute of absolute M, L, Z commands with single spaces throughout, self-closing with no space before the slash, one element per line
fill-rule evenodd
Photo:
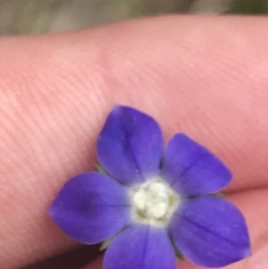
<path fill-rule="evenodd" d="M 84 29 L 161 13 L 266 14 L 268 0 L 0 0 L 0 35 Z"/>

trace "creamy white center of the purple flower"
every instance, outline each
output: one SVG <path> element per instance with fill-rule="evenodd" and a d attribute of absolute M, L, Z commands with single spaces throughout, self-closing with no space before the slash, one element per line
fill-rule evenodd
<path fill-rule="evenodd" d="M 137 223 L 165 227 L 180 196 L 161 178 L 155 178 L 130 188 L 131 214 Z"/>

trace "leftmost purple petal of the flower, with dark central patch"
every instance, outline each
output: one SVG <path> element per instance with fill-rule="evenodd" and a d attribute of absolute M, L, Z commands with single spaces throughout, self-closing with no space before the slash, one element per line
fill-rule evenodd
<path fill-rule="evenodd" d="M 49 214 L 75 240 L 95 244 L 113 236 L 130 221 L 127 189 L 98 173 L 82 173 L 68 181 Z"/>

